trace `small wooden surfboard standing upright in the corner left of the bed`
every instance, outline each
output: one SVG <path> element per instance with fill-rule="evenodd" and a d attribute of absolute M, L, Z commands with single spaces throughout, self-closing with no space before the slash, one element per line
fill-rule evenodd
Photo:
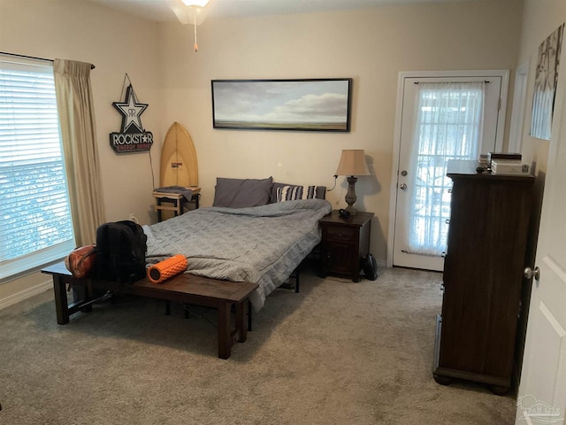
<path fill-rule="evenodd" d="M 195 145 L 186 128 L 173 122 L 167 130 L 161 151 L 161 169 L 159 175 L 161 187 L 198 186 L 198 164 Z"/>

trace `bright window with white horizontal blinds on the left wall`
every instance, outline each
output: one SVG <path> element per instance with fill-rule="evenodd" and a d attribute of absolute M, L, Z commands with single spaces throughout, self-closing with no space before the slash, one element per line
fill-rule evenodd
<path fill-rule="evenodd" d="M 53 66 L 0 55 L 0 282 L 74 248 Z"/>

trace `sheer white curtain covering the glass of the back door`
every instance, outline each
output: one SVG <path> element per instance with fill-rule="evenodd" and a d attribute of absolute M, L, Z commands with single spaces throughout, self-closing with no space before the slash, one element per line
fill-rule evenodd
<path fill-rule="evenodd" d="M 450 218 L 449 159 L 477 159 L 483 131 L 485 85 L 421 82 L 418 85 L 408 182 L 408 252 L 440 256 Z"/>

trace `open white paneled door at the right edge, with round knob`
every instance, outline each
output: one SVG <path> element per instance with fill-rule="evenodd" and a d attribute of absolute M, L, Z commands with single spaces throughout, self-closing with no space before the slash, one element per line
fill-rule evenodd
<path fill-rule="evenodd" d="M 563 55 L 564 58 L 566 55 Z M 562 66 L 561 77 L 566 77 Z M 562 81 L 564 78 L 561 79 Z M 562 85 L 562 88 L 560 87 Z M 516 424 L 563 424 L 566 413 L 566 85 L 559 83 L 540 218 Z"/>

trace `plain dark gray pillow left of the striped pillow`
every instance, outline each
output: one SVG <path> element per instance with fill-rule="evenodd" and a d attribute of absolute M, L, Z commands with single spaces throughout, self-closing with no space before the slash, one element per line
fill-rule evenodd
<path fill-rule="evenodd" d="M 273 178 L 227 179 L 218 177 L 214 189 L 213 206 L 245 208 L 267 205 L 272 193 Z"/>

